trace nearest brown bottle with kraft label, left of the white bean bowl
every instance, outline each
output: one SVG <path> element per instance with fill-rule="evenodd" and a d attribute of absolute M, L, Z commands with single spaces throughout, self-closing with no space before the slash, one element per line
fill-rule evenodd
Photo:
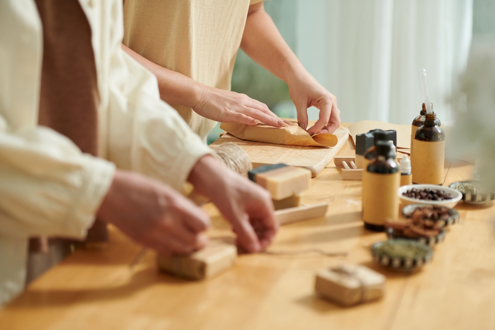
<path fill-rule="evenodd" d="M 388 141 L 378 141 L 376 153 L 363 175 L 363 221 L 366 229 L 383 231 L 387 219 L 398 217 L 400 171 Z"/>

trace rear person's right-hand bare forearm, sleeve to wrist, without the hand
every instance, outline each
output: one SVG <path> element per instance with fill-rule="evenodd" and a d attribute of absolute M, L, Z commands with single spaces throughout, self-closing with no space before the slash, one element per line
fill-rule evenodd
<path fill-rule="evenodd" d="M 286 83 L 307 73 L 264 10 L 262 2 L 249 6 L 241 48 L 256 63 Z"/>

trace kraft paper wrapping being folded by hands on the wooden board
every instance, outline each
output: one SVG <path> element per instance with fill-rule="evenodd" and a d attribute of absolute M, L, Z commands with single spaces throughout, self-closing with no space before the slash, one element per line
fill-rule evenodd
<path fill-rule="evenodd" d="M 222 130 L 238 139 L 286 145 L 332 147 L 338 142 L 333 134 L 309 135 L 297 125 L 276 128 L 265 124 L 246 125 L 241 123 L 222 123 Z"/>

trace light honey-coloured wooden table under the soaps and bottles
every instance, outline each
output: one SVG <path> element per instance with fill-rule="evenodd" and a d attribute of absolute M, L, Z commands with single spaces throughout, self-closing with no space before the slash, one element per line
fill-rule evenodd
<path fill-rule="evenodd" d="M 340 155 L 352 154 L 347 145 Z M 385 234 L 363 228 L 361 182 L 343 181 L 331 162 L 303 202 L 330 204 L 324 219 L 285 226 L 270 247 L 348 251 L 347 257 L 240 256 L 234 269 L 204 282 L 159 274 L 154 253 L 116 229 L 110 243 L 79 250 L 0 311 L 0 329 L 275 330 L 495 329 L 495 207 L 460 203 L 460 223 L 415 274 L 372 262 L 370 245 Z M 471 178 L 470 163 L 446 164 L 445 185 Z M 210 205 L 210 236 L 232 240 Z M 314 294 L 314 274 L 335 263 L 360 263 L 387 276 L 379 301 L 342 308 Z M 1 267 L 1 266 L 0 266 Z"/>

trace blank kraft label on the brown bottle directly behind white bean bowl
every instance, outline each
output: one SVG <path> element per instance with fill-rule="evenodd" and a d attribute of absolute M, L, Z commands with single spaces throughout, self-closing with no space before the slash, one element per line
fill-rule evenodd
<path fill-rule="evenodd" d="M 415 140 L 413 148 L 415 157 L 411 158 L 412 182 L 442 185 L 444 183 L 445 141 Z"/>

